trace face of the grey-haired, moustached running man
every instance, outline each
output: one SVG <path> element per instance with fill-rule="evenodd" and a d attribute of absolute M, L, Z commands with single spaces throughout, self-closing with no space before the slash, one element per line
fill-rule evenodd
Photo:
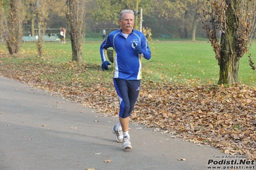
<path fill-rule="evenodd" d="M 119 20 L 123 33 L 132 33 L 134 18 L 132 13 L 124 13 L 123 19 Z"/>

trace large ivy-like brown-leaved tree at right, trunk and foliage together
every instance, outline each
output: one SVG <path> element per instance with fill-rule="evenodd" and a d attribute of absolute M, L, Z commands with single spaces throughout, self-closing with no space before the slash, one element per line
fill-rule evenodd
<path fill-rule="evenodd" d="M 256 1 L 208 2 L 210 9 L 204 13 L 204 28 L 218 60 L 218 84 L 235 84 L 239 82 L 239 60 L 250 49 L 250 41 L 255 35 Z M 255 70 L 251 58 L 250 65 Z"/>

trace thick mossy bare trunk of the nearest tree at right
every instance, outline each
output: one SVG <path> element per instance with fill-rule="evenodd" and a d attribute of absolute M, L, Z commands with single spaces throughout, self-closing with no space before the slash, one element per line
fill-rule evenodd
<path fill-rule="evenodd" d="M 235 12 L 239 10 L 236 0 L 226 0 L 228 8 L 226 19 L 228 20 L 226 30 L 221 35 L 221 58 L 219 59 L 219 82 L 218 84 L 234 84 L 239 82 L 238 70 L 239 59 L 235 52 L 235 33 L 237 32 L 237 17 Z"/>

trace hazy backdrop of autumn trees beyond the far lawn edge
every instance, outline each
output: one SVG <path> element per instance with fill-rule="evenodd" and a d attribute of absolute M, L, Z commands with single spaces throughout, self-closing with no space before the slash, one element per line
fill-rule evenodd
<path fill-rule="evenodd" d="M 29 2 L 29 1 L 28 1 Z M 139 3 L 139 4 L 137 4 Z M 29 3 L 28 3 L 29 5 Z M 138 6 L 137 6 L 138 5 Z M 104 28 L 107 33 L 119 28 L 118 14 L 124 8 L 132 9 L 135 14 L 141 16 L 142 26 L 151 29 L 153 38 L 161 35 L 171 35 L 173 38 L 191 39 L 206 38 L 201 22 L 204 1 L 180 0 L 180 1 L 103 1 L 88 0 L 85 6 L 86 37 L 98 38 Z M 50 1 L 47 4 L 47 33 L 59 33 L 60 27 L 69 28 L 65 17 L 65 1 Z M 27 11 L 26 24 L 24 24 L 24 36 L 29 35 L 28 29 L 37 28 L 34 23 L 33 12 Z M 68 31 L 68 30 L 67 30 Z M 35 32 L 36 34 L 36 32 Z M 67 36 L 69 34 L 67 33 Z M 195 38 L 194 37 L 194 38 Z"/>

